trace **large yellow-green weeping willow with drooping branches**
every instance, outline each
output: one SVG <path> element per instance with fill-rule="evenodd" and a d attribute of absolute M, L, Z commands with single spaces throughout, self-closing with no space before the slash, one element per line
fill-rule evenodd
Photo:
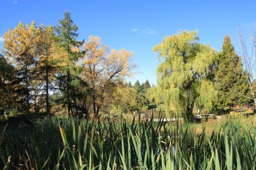
<path fill-rule="evenodd" d="M 212 108 L 217 93 L 212 83 L 216 51 L 199 44 L 197 31 L 183 31 L 167 36 L 154 46 L 160 64 L 157 68 L 157 87 L 150 89 L 150 97 L 157 103 L 164 101 L 166 112 L 193 116 L 195 104 Z"/>

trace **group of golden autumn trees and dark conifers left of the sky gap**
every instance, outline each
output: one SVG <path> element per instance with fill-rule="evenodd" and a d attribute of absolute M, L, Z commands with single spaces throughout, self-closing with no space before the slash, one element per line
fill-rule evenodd
<path fill-rule="evenodd" d="M 57 26 L 20 22 L 3 35 L 0 112 L 98 116 L 113 102 L 134 68 L 132 52 L 110 49 L 97 36 L 79 41 L 77 29 L 66 12 Z"/>

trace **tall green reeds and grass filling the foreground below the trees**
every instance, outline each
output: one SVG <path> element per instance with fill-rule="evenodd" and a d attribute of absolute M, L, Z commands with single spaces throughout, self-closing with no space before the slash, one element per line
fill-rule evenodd
<path fill-rule="evenodd" d="M 6 128 L 2 124 L 0 168 L 255 169 L 253 121 L 255 117 L 227 117 L 218 123 L 173 126 L 46 117 Z"/>

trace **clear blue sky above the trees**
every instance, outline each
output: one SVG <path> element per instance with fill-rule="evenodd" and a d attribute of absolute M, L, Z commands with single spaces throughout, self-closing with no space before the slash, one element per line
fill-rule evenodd
<path fill-rule="evenodd" d="M 237 40 L 237 30 L 255 23 L 256 1 L 208 0 L 0 0 L 0 37 L 18 22 L 57 24 L 64 11 L 79 28 L 79 39 L 96 35 L 111 48 L 134 53 L 137 73 L 129 81 L 156 84 L 158 57 L 152 48 L 179 30 L 198 30 L 200 42 L 221 50 L 225 35 Z M 0 48 L 3 39 L 0 38 Z"/>

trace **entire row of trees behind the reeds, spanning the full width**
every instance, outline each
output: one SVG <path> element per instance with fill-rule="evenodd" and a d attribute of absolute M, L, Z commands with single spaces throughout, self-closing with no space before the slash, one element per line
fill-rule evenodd
<path fill-rule="evenodd" d="M 132 52 L 110 49 L 97 36 L 78 40 L 77 30 L 66 12 L 57 26 L 20 22 L 3 35 L 1 113 L 98 117 L 158 108 L 191 119 L 198 109 L 220 113 L 256 103 L 255 53 L 250 58 L 243 41 L 238 55 L 229 36 L 221 52 L 201 44 L 196 31 L 167 36 L 154 46 L 160 64 L 151 87 L 126 83 Z"/>

